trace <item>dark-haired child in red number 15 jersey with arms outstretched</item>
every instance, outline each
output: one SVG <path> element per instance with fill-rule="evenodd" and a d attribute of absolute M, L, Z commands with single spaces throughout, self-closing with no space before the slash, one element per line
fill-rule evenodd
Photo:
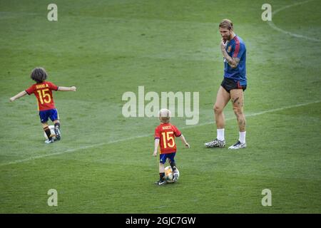
<path fill-rule="evenodd" d="M 52 143 L 54 142 L 54 139 L 51 136 L 51 132 L 48 125 L 49 118 L 51 121 L 54 122 L 55 125 L 55 134 L 56 139 L 61 139 L 61 133 L 60 133 L 60 122 L 59 122 L 59 115 L 55 107 L 54 98 L 52 96 L 52 90 L 56 91 L 76 91 L 76 87 L 62 87 L 62 86 L 56 86 L 54 83 L 51 83 L 49 81 L 46 81 L 47 79 L 47 73 L 44 68 L 34 68 L 34 70 L 31 72 L 31 79 L 36 81 L 36 83 L 26 90 L 18 93 L 17 95 L 10 98 L 10 101 L 14 101 L 18 98 L 23 97 L 24 95 L 28 94 L 31 95 L 31 93 L 34 93 L 37 98 L 38 102 L 38 110 L 39 110 L 39 116 L 41 120 L 42 127 L 44 128 L 44 132 L 48 136 L 48 140 L 46 140 L 46 143 Z"/>

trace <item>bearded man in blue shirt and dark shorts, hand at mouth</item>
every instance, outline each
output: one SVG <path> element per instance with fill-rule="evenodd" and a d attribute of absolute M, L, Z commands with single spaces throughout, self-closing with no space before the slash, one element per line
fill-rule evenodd
<path fill-rule="evenodd" d="M 225 147 L 224 127 L 225 118 L 223 109 L 231 100 L 233 110 L 238 120 L 239 138 L 238 142 L 228 147 L 229 149 L 240 149 L 246 147 L 245 142 L 245 115 L 243 113 L 244 90 L 246 89 L 246 48 L 242 38 L 233 31 L 233 23 L 224 19 L 219 25 L 222 41 L 220 48 L 224 59 L 224 79 L 218 89 L 218 95 L 213 107 L 217 127 L 217 138 L 205 143 L 205 147 Z"/>

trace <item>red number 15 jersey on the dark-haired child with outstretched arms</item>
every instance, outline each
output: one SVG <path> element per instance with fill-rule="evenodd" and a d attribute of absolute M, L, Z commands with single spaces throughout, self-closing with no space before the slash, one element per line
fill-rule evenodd
<path fill-rule="evenodd" d="M 25 91 L 28 95 L 31 95 L 31 93 L 36 95 L 38 110 L 43 111 L 56 108 L 51 90 L 58 90 L 58 86 L 49 81 L 44 81 L 30 86 Z"/>

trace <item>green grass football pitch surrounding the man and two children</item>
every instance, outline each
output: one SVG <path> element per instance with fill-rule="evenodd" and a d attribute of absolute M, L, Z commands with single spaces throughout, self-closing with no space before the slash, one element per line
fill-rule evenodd
<path fill-rule="evenodd" d="M 0 1 L 0 213 L 320 213 L 320 1 Z M 287 7 L 289 6 L 289 7 Z M 247 45 L 245 150 L 205 149 L 223 78 L 218 23 L 231 19 Z M 291 34 L 301 37 L 294 37 Z M 54 92 L 62 140 L 44 144 L 31 70 L 77 86 Z M 158 118 L 124 118 L 123 93 L 199 92 L 200 121 L 172 123 L 180 180 L 158 187 Z M 238 127 L 231 104 L 225 138 Z M 47 204 L 58 192 L 58 207 Z M 272 192 L 263 207 L 262 190 Z"/>

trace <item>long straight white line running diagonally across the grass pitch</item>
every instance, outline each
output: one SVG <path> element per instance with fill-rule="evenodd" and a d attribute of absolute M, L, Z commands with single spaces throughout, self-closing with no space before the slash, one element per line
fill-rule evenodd
<path fill-rule="evenodd" d="M 277 111 L 280 111 L 280 110 L 285 110 L 285 109 L 288 109 L 288 108 L 297 108 L 297 107 L 301 107 L 301 106 L 305 106 L 305 105 L 311 105 L 311 104 L 320 103 L 320 102 L 321 102 L 321 100 L 317 100 L 317 101 L 312 101 L 312 102 L 308 102 L 308 103 L 301 103 L 301 104 L 297 104 L 297 105 L 285 106 L 285 107 L 282 107 L 282 108 L 273 108 L 273 109 L 265 110 L 265 111 L 258 112 L 258 113 L 248 114 L 248 115 L 245 115 L 245 117 L 249 118 L 251 116 L 263 115 L 265 113 L 273 113 L 273 112 L 277 112 Z M 234 119 L 235 118 L 233 117 L 233 118 L 226 118 L 225 120 L 234 120 Z M 210 121 L 210 122 L 207 122 L 207 123 L 201 123 L 199 125 L 185 126 L 185 127 L 180 128 L 180 129 L 195 128 L 195 127 L 199 127 L 199 126 L 203 126 L 203 125 L 209 125 L 209 124 L 213 124 L 213 123 L 214 123 L 214 121 Z M 113 141 L 109 141 L 109 142 L 101 142 L 101 143 L 97 143 L 97 144 L 93 144 L 93 145 L 86 145 L 86 146 L 82 146 L 82 147 L 77 147 L 77 148 L 73 148 L 73 149 L 64 150 L 64 151 L 61 151 L 61 152 L 53 152 L 53 153 L 46 154 L 46 155 L 39 155 L 39 156 L 29 157 L 29 158 L 26 158 L 26 159 L 14 160 L 12 162 L 1 163 L 0 167 L 1 166 L 5 166 L 5 165 L 18 164 L 18 163 L 21 163 L 21 162 L 28 162 L 28 161 L 36 160 L 36 159 L 43 158 L 43 157 L 51 157 L 51 156 L 56 156 L 56 155 L 62 155 L 62 154 L 68 153 L 68 152 L 75 152 L 75 151 L 78 151 L 78 150 L 86 150 L 86 149 L 93 148 L 93 147 L 100 147 L 102 145 L 108 145 L 108 144 L 113 144 L 113 143 L 117 143 L 117 142 L 129 141 L 129 140 L 133 140 L 133 139 L 137 139 L 137 138 L 145 138 L 145 137 L 151 137 L 151 136 L 152 136 L 151 134 L 138 135 L 138 136 L 134 136 L 134 137 L 130 137 L 130 138 L 122 138 L 122 139 L 119 139 L 119 140 L 113 140 Z"/>

